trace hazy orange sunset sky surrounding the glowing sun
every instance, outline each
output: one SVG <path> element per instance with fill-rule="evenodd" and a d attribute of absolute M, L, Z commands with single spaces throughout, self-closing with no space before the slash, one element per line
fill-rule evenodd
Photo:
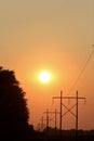
<path fill-rule="evenodd" d="M 59 111 L 53 95 L 78 90 L 86 98 L 79 101 L 79 128 L 94 129 L 94 55 L 79 77 L 92 44 L 94 0 L 0 0 L 0 65 L 15 72 L 35 128 L 46 108 Z M 52 74 L 49 84 L 38 80 L 42 70 Z M 63 128 L 75 128 L 75 117 L 66 115 Z"/>

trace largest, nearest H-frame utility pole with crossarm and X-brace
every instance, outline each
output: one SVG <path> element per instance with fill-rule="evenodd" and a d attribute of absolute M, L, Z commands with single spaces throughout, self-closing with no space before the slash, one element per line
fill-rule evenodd
<path fill-rule="evenodd" d="M 76 117 L 76 139 L 78 139 L 78 100 L 82 99 L 85 100 L 86 98 L 83 97 L 78 97 L 78 91 L 77 91 L 77 95 L 76 97 L 63 97 L 63 91 L 61 91 L 61 97 L 53 97 L 53 99 L 59 99 L 61 100 L 61 113 L 59 113 L 59 133 L 62 136 L 62 129 L 63 129 L 63 120 L 62 118 L 67 114 L 67 113 L 71 113 L 75 117 Z M 67 100 L 76 100 L 76 104 L 73 106 L 71 106 L 70 108 L 68 108 L 64 103 L 63 103 L 63 99 L 67 99 Z M 67 112 L 63 113 L 63 106 L 67 110 Z M 71 112 L 71 110 L 76 107 L 76 114 Z"/>

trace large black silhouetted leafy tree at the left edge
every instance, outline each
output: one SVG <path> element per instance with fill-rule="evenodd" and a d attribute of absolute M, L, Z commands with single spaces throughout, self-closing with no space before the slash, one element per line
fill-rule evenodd
<path fill-rule="evenodd" d="M 28 117 L 25 92 L 19 87 L 15 73 L 0 67 L 0 136 L 14 139 L 25 137 Z"/>

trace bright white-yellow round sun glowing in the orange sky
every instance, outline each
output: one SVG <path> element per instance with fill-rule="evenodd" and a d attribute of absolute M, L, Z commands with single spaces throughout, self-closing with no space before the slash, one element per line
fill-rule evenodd
<path fill-rule="evenodd" d="M 49 72 L 41 72 L 39 74 L 39 80 L 41 82 L 49 82 L 51 80 L 51 74 Z"/>

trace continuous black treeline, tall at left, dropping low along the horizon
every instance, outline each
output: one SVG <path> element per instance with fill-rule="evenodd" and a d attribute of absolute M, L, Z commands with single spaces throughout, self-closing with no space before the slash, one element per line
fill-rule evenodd
<path fill-rule="evenodd" d="M 29 111 L 25 91 L 13 70 L 0 67 L 0 141 L 76 141 L 76 130 L 59 130 L 48 127 L 33 130 L 28 124 Z M 78 131 L 78 141 L 93 141 L 94 130 Z"/>

